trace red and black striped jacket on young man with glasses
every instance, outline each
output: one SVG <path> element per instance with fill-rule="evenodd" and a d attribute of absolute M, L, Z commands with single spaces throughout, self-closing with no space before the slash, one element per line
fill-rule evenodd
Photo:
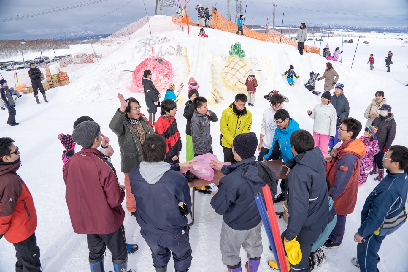
<path fill-rule="evenodd" d="M 171 117 L 168 119 L 160 116 L 155 123 L 156 134 L 160 134 L 166 140 L 166 158 L 164 161 L 169 162 L 174 156 L 178 156 L 178 152 L 181 151 L 182 143 L 180 133 L 177 128 L 176 118 Z"/>

